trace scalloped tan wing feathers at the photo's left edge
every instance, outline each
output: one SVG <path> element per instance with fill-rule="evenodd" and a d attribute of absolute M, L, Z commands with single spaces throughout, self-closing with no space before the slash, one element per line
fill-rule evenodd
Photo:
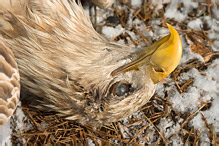
<path fill-rule="evenodd" d="M 15 111 L 20 98 L 20 76 L 12 51 L 0 38 L 0 127 Z"/>

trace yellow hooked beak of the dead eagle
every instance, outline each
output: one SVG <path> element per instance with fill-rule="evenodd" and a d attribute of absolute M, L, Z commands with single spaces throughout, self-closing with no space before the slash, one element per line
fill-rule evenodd
<path fill-rule="evenodd" d="M 170 35 L 163 37 L 145 50 L 137 54 L 138 58 L 114 70 L 111 75 L 138 69 L 139 66 L 148 64 L 147 73 L 156 84 L 166 78 L 179 64 L 182 56 L 182 42 L 178 32 L 167 24 Z"/>

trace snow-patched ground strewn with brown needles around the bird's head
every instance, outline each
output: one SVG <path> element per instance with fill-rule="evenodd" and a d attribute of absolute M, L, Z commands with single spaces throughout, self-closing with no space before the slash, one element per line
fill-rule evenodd
<path fill-rule="evenodd" d="M 167 35 L 166 23 L 174 26 L 183 44 L 179 66 L 142 109 L 97 129 L 20 104 L 0 129 L 1 144 L 219 144 L 218 5 L 120 0 L 97 8 L 97 31 L 136 49 Z"/>

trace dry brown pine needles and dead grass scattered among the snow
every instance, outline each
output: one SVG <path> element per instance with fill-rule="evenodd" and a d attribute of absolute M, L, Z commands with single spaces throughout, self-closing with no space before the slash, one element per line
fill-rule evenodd
<path fill-rule="evenodd" d="M 189 71 L 192 68 L 198 69 L 203 75 L 205 75 L 205 69 L 211 64 L 212 60 L 218 57 L 219 52 L 212 51 L 212 40 L 208 38 L 208 29 L 203 31 L 200 30 L 189 30 L 187 24 L 184 22 L 177 22 L 173 19 L 166 19 L 164 17 L 165 9 L 156 10 L 156 6 L 151 3 L 145 3 L 142 7 L 134 9 L 131 7 L 129 1 L 120 0 L 121 5 L 126 5 L 127 9 L 120 9 L 118 6 L 114 6 L 114 16 L 118 17 L 120 24 L 126 27 L 130 10 L 134 10 L 133 18 L 138 18 L 142 23 L 146 24 L 145 31 L 153 30 L 150 22 L 153 19 L 161 18 L 161 21 L 156 24 L 162 27 L 167 27 L 166 23 L 173 26 L 179 26 L 179 33 L 185 37 L 186 41 L 190 45 L 191 51 L 200 54 L 204 58 L 204 63 L 201 63 L 198 59 L 188 60 L 186 63 L 181 64 L 172 73 L 171 78 L 177 87 L 179 93 L 184 93 L 187 88 L 193 85 L 194 79 L 187 81 L 180 81 L 181 74 Z M 164 8 L 169 3 L 164 3 Z M 178 7 L 182 7 L 180 4 Z M 200 3 L 196 11 L 204 10 L 201 13 L 203 15 L 212 16 L 212 5 L 211 3 Z M 197 14 L 193 11 L 189 13 L 187 22 L 197 18 Z M 117 25 L 117 24 L 110 24 Z M 154 38 L 144 36 L 142 30 L 138 30 L 135 25 L 129 28 L 129 31 L 134 32 L 140 37 L 139 40 L 135 40 L 128 33 L 122 33 L 114 38 L 118 41 L 120 39 L 128 42 L 129 38 L 132 43 L 127 45 L 138 46 L 139 43 L 146 45 L 151 44 Z M 153 30 L 154 31 L 154 30 Z M 165 87 L 168 84 L 165 83 Z M 140 109 L 142 118 L 129 118 L 128 124 L 123 122 L 115 122 L 109 125 L 105 125 L 100 128 L 93 129 L 92 127 L 82 126 L 79 123 L 73 121 L 67 121 L 55 115 L 55 113 L 43 113 L 36 111 L 28 107 L 24 107 L 23 111 L 27 116 L 25 123 L 29 123 L 31 126 L 23 131 L 14 131 L 12 142 L 14 144 L 23 143 L 22 139 L 27 144 L 70 144 L 70 145 L 87 145 L 88 139 L 92 140 L 96 145 L 113 145 L 115 143 L 120 145 L 138 145 L 142 141 L 149 141 L 150 137 L 154 137 L 154 143 L 156 145 L 168 144 L 169 141 L 178 136 L 185 144 L 200 144 L 200 135 L 203 129 L 196 130 L 194 127 L 189 125 L 190 120 L 197 115 L 201 110 L 207 110 L 211 106 L 211 101 L 203 102 L 198 109 L 193 112 L 180 113 L 176 111 L 171 102 L 169 102 L 170 93 L 165 93 L 165 98 L 159 97 L 155 94 L 151 100 Z M 173 123 L 177 123 L 180 119 L 180 128 L 170 136 L 166 136 L 164 132 L 160 131 L 157 126 L 161 120 L 171 120 Z M 214 127 L 208 124 L 208 121 L 202 115 L 204 121 L 203 127 L 208 131 L 208 138 L 211 144 L 219 144 L 219 140 L 216 139 L 216 133 Z M 133 128 L 134 127 L 134 128 Z M 149 127 L 152 127 L 149 128 Z"/>

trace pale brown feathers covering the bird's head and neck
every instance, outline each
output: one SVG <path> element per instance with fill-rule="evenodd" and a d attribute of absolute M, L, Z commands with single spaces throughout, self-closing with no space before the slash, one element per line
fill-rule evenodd
<path fill-rule="evenodd" d="M 1 41 L 15 54 L 22 87 L 40 97 L 35 107 L 97 126 L 127 117 L 153 95 L 147 65 L 111 76 L 136 49 L 99 35 L 74 1 L 12 0 L 1 10 Z M 117 82 L 133 91 L 110 93 Z"/>

